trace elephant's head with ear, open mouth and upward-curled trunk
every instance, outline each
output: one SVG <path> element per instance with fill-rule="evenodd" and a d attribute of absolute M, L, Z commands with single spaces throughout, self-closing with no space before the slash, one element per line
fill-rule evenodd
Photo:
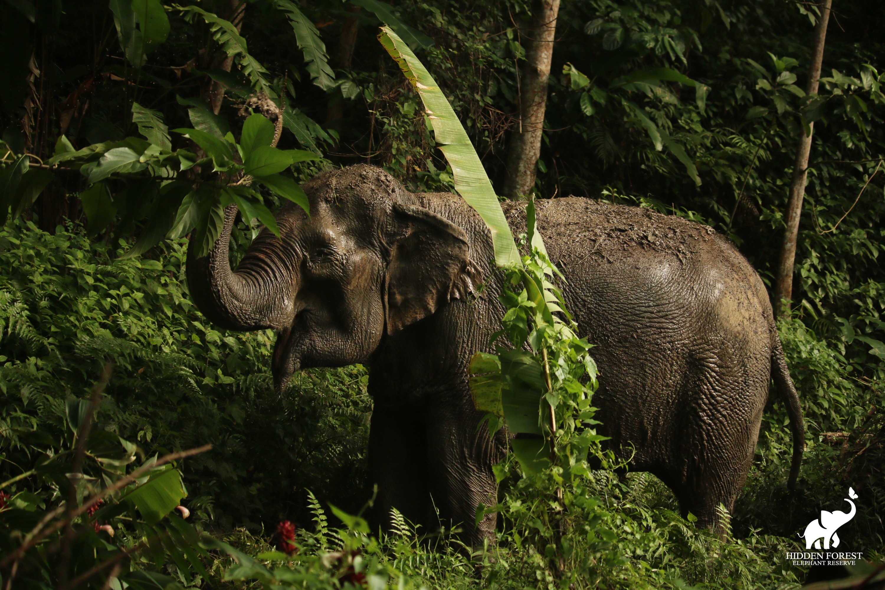
<path fill-rule="evenodd" d="M 273 328 L 278 391 L 308 367 L 367 362 L 384 338 L 469 289 L 464 231 L 418 205 L 381 169 L 354 166 L 304 184 L 308 215 L 289 204 L 281 237 L 264 229 L 232 271 L 236 210 L 228 207 L 212 251 L 188 255 L 191 297 L 230 330 Z"/>

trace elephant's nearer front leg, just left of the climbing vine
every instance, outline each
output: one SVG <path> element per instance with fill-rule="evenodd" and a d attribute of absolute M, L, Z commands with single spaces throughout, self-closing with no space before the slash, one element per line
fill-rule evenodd
<path fill-rule="evenodd" d="M 476 508 L 496 504 L 496 480 L 492 465 L 502 457 L 506 444 L 502 431 L 489 437 L 482 415 L 464 397 L 441 396 L 427 406 L 427 482 L 435 508 L 446 528 L 457 527 L 466 543 L 481 545 L 494 539 L 496 515 L 476 524 Z M 466 400 L 469 400 L 469 393 Z"/>

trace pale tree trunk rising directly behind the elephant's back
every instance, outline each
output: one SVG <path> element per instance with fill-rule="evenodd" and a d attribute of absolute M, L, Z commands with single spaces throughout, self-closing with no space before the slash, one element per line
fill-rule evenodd
<path fill-rule="evenodd" d="M 507 197 L 525 195 L 535 186 L 558 12 L 559 0 L 535 0 L 526 68 L 519 88 L 519 128 L 513 130 L 507 153 Z"/>

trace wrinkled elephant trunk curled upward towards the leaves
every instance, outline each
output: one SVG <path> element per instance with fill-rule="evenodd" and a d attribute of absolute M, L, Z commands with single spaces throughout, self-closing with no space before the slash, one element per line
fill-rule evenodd
<path fill-rule="evenodd" d="M 188 248 L 188 287 L 196 307 L 210 322 L 227 330 L 285 328 L 292 318 L 291 273 L 281 260 L 280 241 L 268 231 L 250 245 L 236 271 L 230 268 L 227 252 L 230 232 L 236 219 L 236 206 L 225 209 L 224 228 L 202 258 L 195 255 L 196 244 Z M 288 279 L 288 280 L 287 280 Z"/>

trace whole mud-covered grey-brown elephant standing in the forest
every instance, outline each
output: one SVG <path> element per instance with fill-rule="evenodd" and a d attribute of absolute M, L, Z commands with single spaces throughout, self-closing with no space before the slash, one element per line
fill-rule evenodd
<path fill-rule="evenodd" d="M 264 230 L 232 272 L 228 238 L 189 254 L 197 306 L 231 330 L 278 330 L 273 377 L 355 362 L 371 368 L 369 462 L 381 520 L 389 508 L 432 529 L 473 528 L 495 503 L 492 465 L 505 440 L 477 431 L 467 364 L 500 327 L 500 274 L 489 231 L 456 195 L 411 194 L 379 168 L 355 166 L 304 185 L 311 215 L 288 206 L 281 238 Z M 524 204 L 504 204 L 515 233 Z M 550 258 L 565 274 L 568 306 L 597 346 L 601 433 L 631 469 L 660 477 L 704 526 L 731 510 L 758 437 L 768 385 L 785 392 L 795 481 L 802 413 L 765 286 L 712 229 L 585 198 L 538 203 Z M 481 283 L 488 289 L 479 292 Z"/>

